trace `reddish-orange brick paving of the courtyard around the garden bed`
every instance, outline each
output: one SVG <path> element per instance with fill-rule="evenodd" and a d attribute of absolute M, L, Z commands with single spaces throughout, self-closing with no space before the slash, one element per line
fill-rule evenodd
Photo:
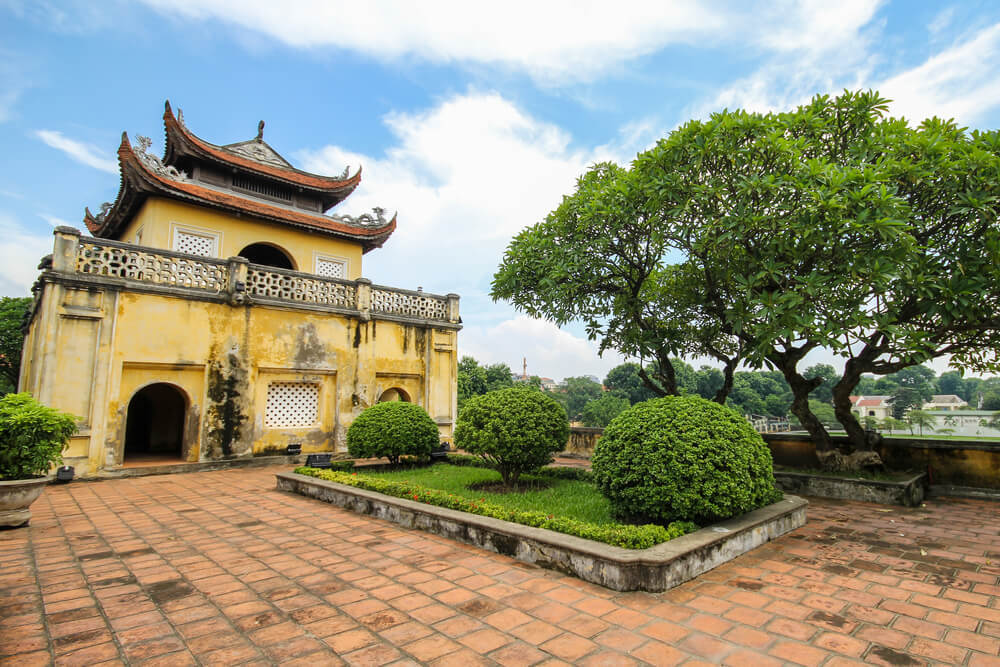
<path fill-rule="evenodd" d="M 0 532 L 0 663 L 1000 665 L 1000 504 L 813 500 L 662 594 L 274 490 L 276 469 L 50 486 Z"/>

